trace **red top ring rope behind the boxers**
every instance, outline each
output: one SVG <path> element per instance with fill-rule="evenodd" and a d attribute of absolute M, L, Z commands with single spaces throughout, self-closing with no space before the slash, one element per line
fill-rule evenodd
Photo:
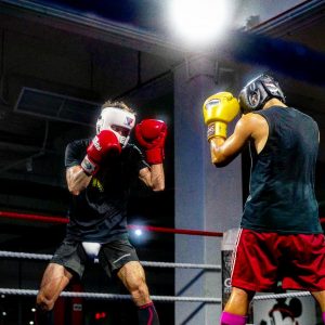
<path fill-rule="evenodd" d="M 20 212 L 11 212 L 11 211 L 0 211 L 0 217 L 12 218 L 12 219 L 22 219 L 22 220 L 42 221 L 42 222 L 49 222 L 49 223 L 68 223 L 68 219 L 63 218 L 63 217 L 48 217 L 48 216 L 20 213 Z M 223 233 L 221 233 L 221 232 L 206 232 L 206 231 L 197 231 L 197 230 L 171 229 L 171 227 L 152 226 L 152 225 L 129 224 L 128 227 L 131 230 L 140 229 L 140 230 L 157 232 L 157 233 L 171 233 L 171 234 L 209 236 L 209 237 L 222 237 L 223 236 Z"/>

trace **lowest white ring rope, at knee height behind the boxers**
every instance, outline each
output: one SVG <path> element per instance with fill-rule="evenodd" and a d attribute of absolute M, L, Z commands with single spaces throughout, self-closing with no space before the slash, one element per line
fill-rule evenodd
<path fill-rule="evenodd" d="M 34 289 L 10 289 L 0 288 L 1 295 L 20 295 L 20 296 L 37 296 L 38 290 Z M 126 300 L 131 299 L 130 295 L 115 295 L 115 294 L 100 294 L 100 292 L 73 292 L 62 291 L 61 297 L 73 298 L 89 298 L 89 299 L 109 299 L 109 300 Z M 171 302 L 171 301 L 186 301 L 186 302 L 208 302 L 208 303 L 221 303 L 220 298 L 207 298 L 207 297 L 172 297 L 172 296 L 151 296 L 155 301 Z"/>

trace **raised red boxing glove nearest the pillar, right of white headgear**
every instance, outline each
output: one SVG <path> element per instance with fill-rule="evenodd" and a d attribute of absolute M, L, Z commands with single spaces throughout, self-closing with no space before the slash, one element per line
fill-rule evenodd
<path fill-rule="evenodd" d="M 146 161 L 161 164 L 165 158 L 165 139 L 167 126 L 162 120 L 144 119 L 135 126 L 135 138 L 145 148 Z"/>

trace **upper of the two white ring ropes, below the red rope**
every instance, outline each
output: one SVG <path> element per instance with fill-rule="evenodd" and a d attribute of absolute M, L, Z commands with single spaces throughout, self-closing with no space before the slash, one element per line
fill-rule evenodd
<path fill-rule="evenodd" d="M 51 260 L 52 255 L 0 250 L 0 257 L 22 258 L 22 259 L 30 259 L 30 260 Z M 169 262 L 152 262 L 152 261 L 141 261 L 141 264 L 144 266 L 152 266 L 152 268 L 205 269 L 205 270 L 221 271 L 221 265 L 213 265 L 213 264 L 169 263 Z"/>

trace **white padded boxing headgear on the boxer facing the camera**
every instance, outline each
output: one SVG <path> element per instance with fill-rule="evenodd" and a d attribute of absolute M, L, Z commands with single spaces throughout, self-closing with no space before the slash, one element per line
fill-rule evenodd
<path fill-rule="evenodd" d="M 98 134 L 110 130 L 121 146 L 126 146 L 135 125 L 135 115 L 118 107 L 104 107 L 96 122 Z"/>

